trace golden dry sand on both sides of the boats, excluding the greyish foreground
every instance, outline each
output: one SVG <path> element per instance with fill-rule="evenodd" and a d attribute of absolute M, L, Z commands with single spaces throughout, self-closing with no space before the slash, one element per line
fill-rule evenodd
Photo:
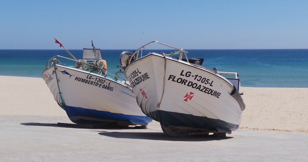
<path fill-rule="evenodd" d="M 44 80 L 0 76 L 0 114 L 66 116 Z M 241 87 L 240 130 L 308 133 L 308 88 Z"/>

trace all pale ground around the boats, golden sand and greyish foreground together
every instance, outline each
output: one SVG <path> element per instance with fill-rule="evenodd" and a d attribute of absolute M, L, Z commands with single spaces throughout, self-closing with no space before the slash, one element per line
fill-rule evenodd
<path fill-rule="evenodd" d="M 0 76 L 0 161 L 306 161 L 308 88 L 241 87 L 246 109 L 227 138 L 72 123 L 41 78 Z"/>

